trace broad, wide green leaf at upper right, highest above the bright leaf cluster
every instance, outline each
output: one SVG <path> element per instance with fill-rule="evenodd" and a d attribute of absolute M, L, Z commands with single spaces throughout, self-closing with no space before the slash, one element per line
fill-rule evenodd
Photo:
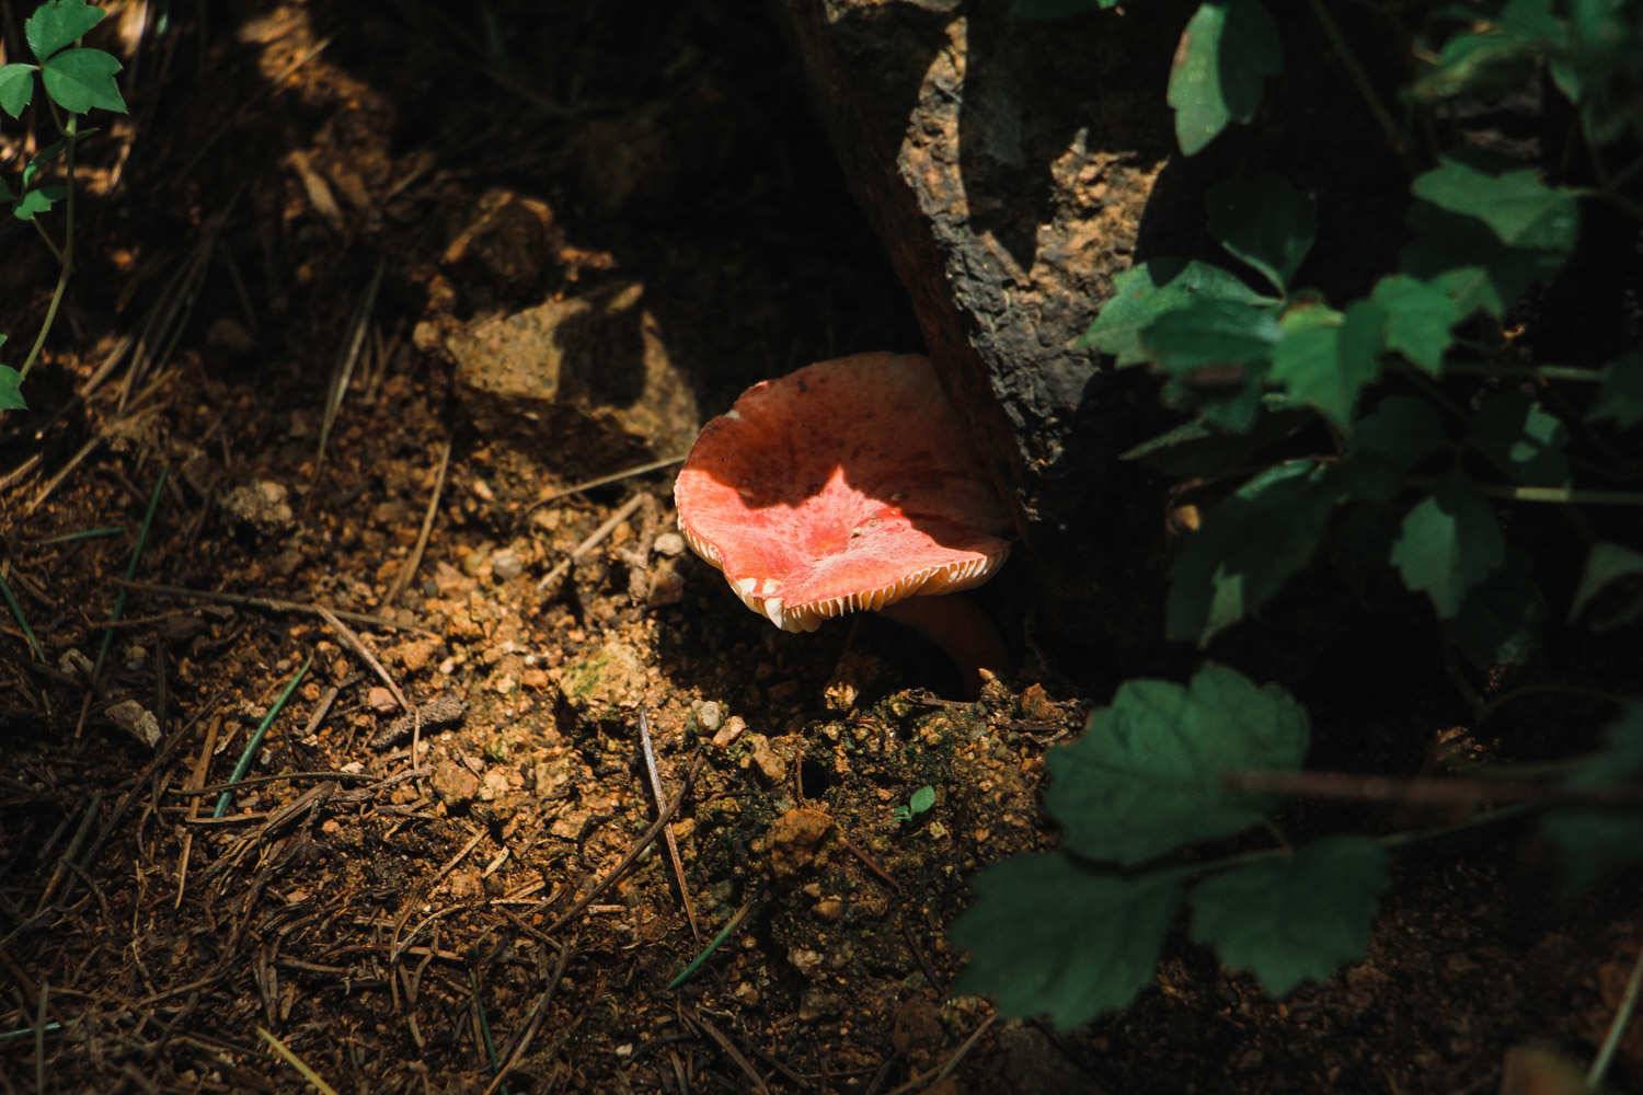
<path fill-rule="evenodd" d="M 1410 190 L 1438 208 L 1482 220 L 1513 248 L 1567 253 L 1581 228 L 1574 190 L 1548 187 L 1526 167 L 1492 176 L 1444 158 L 1416 177 Z"/>

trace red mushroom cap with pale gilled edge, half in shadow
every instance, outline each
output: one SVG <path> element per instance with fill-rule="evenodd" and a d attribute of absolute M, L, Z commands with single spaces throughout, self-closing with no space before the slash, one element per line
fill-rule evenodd
<path fill-rule="evenodd" d="M 702 430 L 679 529 L 782 630 L 978 586 L 1007 519 L 930 361 L 861 353 L 754 384 Z"/>

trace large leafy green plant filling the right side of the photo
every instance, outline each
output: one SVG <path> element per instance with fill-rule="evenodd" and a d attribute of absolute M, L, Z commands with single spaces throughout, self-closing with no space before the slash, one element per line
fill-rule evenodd
<path fill-rule="evenodd" d="M 1055 7 L 1040 15 L 1071 5 Z M 1439 7 L 1408 28 L 1413 76 L 1395 112 L 1329 7 L 1306 7 L 1334 69 L 1408 167 L 1406 240 L 1393 268 L 1331 300 L 1306 277 L 1334 222 L 1313 195 L 1257 171 L 1206 195 L 1219 261 L 1148 258 L 1116 277 L 1083 345 L 1117 368 L 1153 371 L 1163 402 L 1186 415 L 1124 458 L 1190 478 L 1206 499 L 1171 565 L 1165 634 L 1209 647 L 1332 545 L 1329 558 L 1378 566 L 1429 604 L 1466 663 L 1523 663 L 1556 617 L 1538 584 L 1546 563 L 1538 545 L 1515 540 L 1521 522 L 1508 507 L 1643 506 L 1643 491 L 1627 489 L 1643 461 L 1622 456 L 1643 424 L 1643 353 L 1536 363 L 1515 315 L 1561 274 L 1594 205 L 1643 223 L 1643 158 L 1608 166 L 1636 156 L 1643 136 L 1643 10 L 1628 0 Z M 1203 0 L 1168 85 L 1181 153 L 1198 154 L 1234 123 L 1277 126 L 1262 99 L 1283 67 L 1263 0 Z M 1454 125 L 1433 123 L 1456 100 L 1489 103 L 1536 74 L 1574 120 L 1561 156 L 1485 156 Z M 1571 164 L 1590 164 L 1590 179 Z M 1587 535 L 1564 616 L 1594 630 L 1638 622 L 1643 545 Z M 1060 847 L 976 877 L 974 906 L 953 929 L 973 952 L 963 987 L 1010 1015 L 1088 1021 L 1150 982 L 1183 911 L 1193 942 L 1272 995 L 1362 957 L 1390 850 L 1431 834 L 1291 847 L 1277 827 L 1283 796 L 1355 778 L 1303 772 L 1308 739 L 1300 703 L 1224 665 L 1203 665 L 1185 686 L 1121 685 L 1078 742 L 1047 757 Z M 1643 859 L 1638 781 L 1643 701 L 1627 701 L 1604 749 L 1562 783 L 1500 785 L 1497 795 L 1521 804 L 1466 824 L 1543 809 L 1541 837 L 1576 891 Z M 1255 831 L 1278 845 L 1244 850 Z M 1229 839 L 1240 841 L 1231 852 Z"/>

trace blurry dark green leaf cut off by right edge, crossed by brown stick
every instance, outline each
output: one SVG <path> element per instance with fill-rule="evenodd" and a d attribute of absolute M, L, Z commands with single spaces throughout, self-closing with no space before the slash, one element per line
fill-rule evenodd
<path fill-rule="evenodd" d="M 1643 778 L 1643 703 L 1625 703 L 1604 737 L 1604 749 L 1581 762 L 1567 786 L 1620 786 Z M 1562 852 L 1566 893 L 1579 893 L 1604 875 L 1643 859 L 1643 809 L 1553 809 L 1541 821 L 1541 837 Z"/>

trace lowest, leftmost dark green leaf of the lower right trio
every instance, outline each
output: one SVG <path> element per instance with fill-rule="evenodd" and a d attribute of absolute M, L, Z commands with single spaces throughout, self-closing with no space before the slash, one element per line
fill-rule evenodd
<path fill-rule="evenodd" d="M 1053 852 L 994 864 L 974 885 L 976 903 L 948 932 L 971 952 L 955 992 L 1063 1029 L 1129 1006 L 1181 905 L 1171 877 L 1125 878 Z"/>

